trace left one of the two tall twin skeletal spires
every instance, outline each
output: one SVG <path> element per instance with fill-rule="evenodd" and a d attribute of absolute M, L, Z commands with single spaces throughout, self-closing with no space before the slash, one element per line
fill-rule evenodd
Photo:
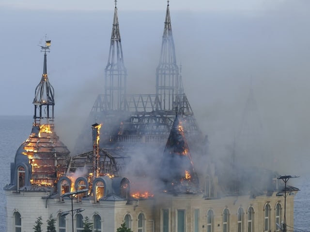
<path fill-rule="evenodd" d="M 127 79 L 116 5 L 117 0 L 115 0 L 109 59 L 105 69 L 105 95 L 109 98 L 109 108 L 112 110 L 121 108 L 122 99 L 126 94 Z"/>

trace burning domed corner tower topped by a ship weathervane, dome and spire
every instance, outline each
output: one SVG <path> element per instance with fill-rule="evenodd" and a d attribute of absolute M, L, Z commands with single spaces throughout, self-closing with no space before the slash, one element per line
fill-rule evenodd
<path fill-rule="evenodd" d="M 54 88 L 47 77 L 47 52 L 50 41 L 41 46 L 44 52 L 43 74 L 34 94 L 34 122 L 31 134 L 16 151 L 11 163 L 12 190 L 52 189 L 64 172 L 70 151 L 54 131 Z M 45 189 L 46 190 L 46 189 Z"/>

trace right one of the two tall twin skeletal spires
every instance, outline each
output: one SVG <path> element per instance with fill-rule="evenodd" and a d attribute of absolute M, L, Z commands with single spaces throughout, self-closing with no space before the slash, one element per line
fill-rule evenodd
<path fill-rule="evenodd" d="M 179 85 L 179 68 L 176 64 L 175 48 L 171 29 L 169 0 L 167 1 L 165 27 L 161 44 L 159 64 L 156 68 L 156 95 L 164 110 L 174 106 Z"/>

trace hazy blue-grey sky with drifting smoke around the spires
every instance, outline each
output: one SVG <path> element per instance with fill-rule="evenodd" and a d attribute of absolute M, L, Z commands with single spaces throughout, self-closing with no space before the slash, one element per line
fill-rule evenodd
<path fill-rule="evenodd" d="M 34 90 L 43 71 L 38 43 L 47 34 L 52 41 L 47 73 L 61 125 L 56 130 L 70 145 L 68 138 L 80 132 L 103 92 L 114 1 L 25 2 L 0 0 L 0 115 L 33 114 Z M 186 95 L 213 153 L 225 153 L 232 145 L 252 79 L 264 146 L 283 168 L 299 159 L 294 165 L 306 170 L 310 1 L 188 2 L 170 2 L 176 56 Z M 159 0 L 118 1 L 129 93 L 155 93 L 166 5 Z"/>

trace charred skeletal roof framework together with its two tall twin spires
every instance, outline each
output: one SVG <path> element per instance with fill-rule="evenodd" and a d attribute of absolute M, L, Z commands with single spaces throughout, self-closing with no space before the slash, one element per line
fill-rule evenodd
<path fill-rule="evenodd" d="M 154 145 L 157 149 L 160 149 L 161 146 L 163 148 L 175 119 L 175 109 L 178 110 L 180 118 L 182 118 L 188 143 L 190 144 L 191 141 L 203 141 L 203 138 L 201 138 L 202 133 L 198 129 L 192 108 L 184 93 L 183 84 L 180 83 L 179 79 L 179 68 L 176 65 L 172 39 L 169 4 L 167 7 L 160 65 L 156 69 L 156 79 L 160 80 L 158 81 L 160 85 L 156 85 L 156 94 L 129 95 L 125 94 L 125 88 L 119 86 L 112 87 L 111 85 L 115 81 L 116 83 L 125 84 L 125 77 L 127 75 L 124 68 L 116 13 L 115 8 L 109 61 L 105 75 L 108 83 L 106 83 L 105 87 L 106 92 L 105 94 L 98 95 L 85 124 L 84 131 L 78 138 L 76 152 L 87 152 L 91 148 L 88 132 L 89 125 L 93 124 L 94 121 L 102 124 L 100 143 L 103 149 L 133 147 L 133 144 L 136 144 L 136 147 L 139 144 L 139 146 L 145 145 L 150 147 Z M 172 58 L 169 58 L 171 56 Z M 171 81 L 161 81 L 165 78 Z M 179 88 L 181 88 L 181 93 L 178 94 Z M 113 91 L 118 91 L 118 94 L 112 94 Z M 112 108 L 111 102 L 115 100 L 115 96 L 117 96 L 119 102 L 116 105 L 114 101 L 113 105 L 116 105 L 116 108 Z M 135 152 L 132 152 L 132 148 L 124 150 L 122 150 L 123 154 L 128 153 L 125 156 L 135 154 Z"/>

